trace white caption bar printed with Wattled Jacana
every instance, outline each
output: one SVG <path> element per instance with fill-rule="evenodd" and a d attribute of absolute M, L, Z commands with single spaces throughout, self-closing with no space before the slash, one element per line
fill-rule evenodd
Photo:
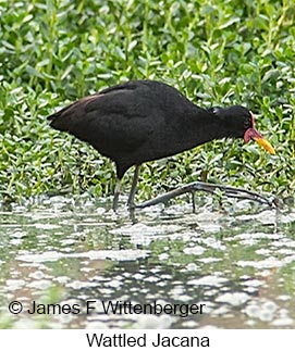
<path fill-rule="evenodd" d="M 1 349 L 12 351 L 145 349 L 293 351 L 294 337 L 294 330 L 0 330 Z"/>

